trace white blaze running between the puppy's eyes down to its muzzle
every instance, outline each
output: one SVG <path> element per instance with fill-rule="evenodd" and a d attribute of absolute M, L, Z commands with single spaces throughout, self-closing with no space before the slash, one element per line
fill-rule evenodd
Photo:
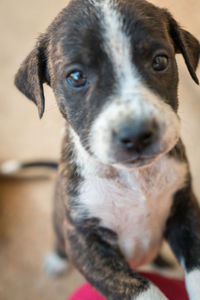
<path fill-rule="evenodd" d="M 132 62 L 130 37 L 123 28 L 124 16 L 119 11 L 117 1 L 91 1 L 103 15 L 101 25 L 104 51 L 112 62 L 116 80 L 116 91 L 112 98 L 115 102 L 123 104 L 126 104 L 127 100 L 132 100 L 135 113 L 141 117 L 147 104 L 144 101 L 144 84 Z"/>

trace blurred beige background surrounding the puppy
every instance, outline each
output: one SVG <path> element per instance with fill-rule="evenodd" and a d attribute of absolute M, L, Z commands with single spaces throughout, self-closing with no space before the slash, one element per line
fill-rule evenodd
<path fill-rule="evenodd" d="M 62 120 L 52 92 L 45 88 L 46 112 L 39 120 L 36 107 L 13 84 L 14 74 L 32 50 L 37 36 L 67 5 L 67 0 L 0 1 L 0 163 L 9 159 L 59 158 Z M 200 40 L 199 0 L 152 0 L 168 8 Z M 194 180 L 200 198 L 200 87 L 178 57 L 180 117 Z M 200 78 L 200 68 L 198 70 Z M 54 176 L 53 176 L 54 177 Z M 48 278 L 42 264 L 53 245 L 51 225 L 54 178 L 0 179 L 0 299 L 66 299 L 83 282 L 73 268 L 59 279 Z M 81 299 L 80 299 L 81 300 Z"/>

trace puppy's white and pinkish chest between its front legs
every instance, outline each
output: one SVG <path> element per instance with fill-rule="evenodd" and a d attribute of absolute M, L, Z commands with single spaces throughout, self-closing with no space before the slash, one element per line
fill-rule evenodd
<path fill-rule="evenodd" d="M 148 169 L 126 172 L 113 179 L 87 176 L 79 200 L 90 217 L 117 233 L 121 251 L 138 267 L 159 250 L 173 194 L 184 184 L 186 166 L 164 157 Z"/>

